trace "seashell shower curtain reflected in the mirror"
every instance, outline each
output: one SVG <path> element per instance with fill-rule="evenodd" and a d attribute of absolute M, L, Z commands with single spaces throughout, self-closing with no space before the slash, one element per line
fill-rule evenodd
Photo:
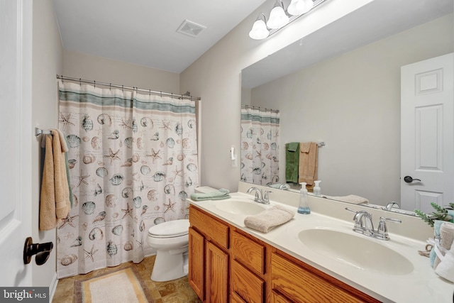
<path fill-rule="evenodd" d="M 241 108 L 241 181 L 279 182 L 279 111 Z"/>

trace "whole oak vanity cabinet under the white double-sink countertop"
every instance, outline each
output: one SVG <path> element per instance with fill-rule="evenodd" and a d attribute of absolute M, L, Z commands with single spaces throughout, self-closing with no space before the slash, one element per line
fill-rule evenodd
<path fill-rule="evenodd" d="M 189 206 L 189 285 L 203 302 L 380 302 Z"/>

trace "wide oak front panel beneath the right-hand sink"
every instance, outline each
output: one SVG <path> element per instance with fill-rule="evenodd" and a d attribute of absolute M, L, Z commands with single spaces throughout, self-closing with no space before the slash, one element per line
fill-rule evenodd
<path fill-rule="evenodd" d="M 309 268 L 309 265 L 307 266 Z M 328 275 L 326 277 L 316 275 L 287 258 L 272 253 L 272 289 L 283 294 L 291 302 L 378 302 L 358 290 L 353 294 L 347 290 L 352 287 Z M 345 286 L 345 289 L 339 285 Z"/>

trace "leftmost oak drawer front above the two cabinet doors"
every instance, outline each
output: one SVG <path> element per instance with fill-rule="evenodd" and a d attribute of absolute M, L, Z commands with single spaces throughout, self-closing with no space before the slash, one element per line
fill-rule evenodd
<path fill-rule="evenodd" d="M 189 222 L 192 227 L 204 234 L 209 241 L 213 241 L 221 248 L 228 249 L 228 225 L 223 224 L 214 216 L 189 206 Z"/>

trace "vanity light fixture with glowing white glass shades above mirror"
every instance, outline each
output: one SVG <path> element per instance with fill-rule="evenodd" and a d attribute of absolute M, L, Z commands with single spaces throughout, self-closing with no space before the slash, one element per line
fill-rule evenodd
<path fill-rule="evenodd" d="M 258 15 L 249 32 L 249 37 L 254 40 L 265 39 L 324 1 L 326 0 L 292 0 L 285 11 L 282 0 L 277 0 L 270 11 L 268 21 L 266 21 L 265 13 Z"/>

